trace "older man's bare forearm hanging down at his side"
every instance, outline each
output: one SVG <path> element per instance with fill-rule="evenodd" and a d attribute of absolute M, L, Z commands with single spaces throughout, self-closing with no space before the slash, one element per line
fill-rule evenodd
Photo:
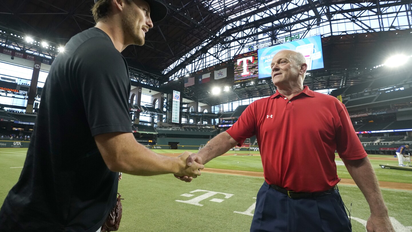
<path fill-rule="evenodd" d="M 342 160 L 356 185 L 361 189 L 366 201 L 368 201 L 371 215 L 387 215 L 388 209 L 384 204 L 375 171 L 368 157 L 358 160 Z"/>

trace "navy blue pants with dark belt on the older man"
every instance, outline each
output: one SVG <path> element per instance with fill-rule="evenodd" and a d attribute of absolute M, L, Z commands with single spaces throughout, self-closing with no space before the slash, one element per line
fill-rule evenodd
<path fill-rule="evenodd" d="M 351 227 L 337 190 L 292 199 L 265 182 L 256 198 L 250 232 L 351 232 Z"/>

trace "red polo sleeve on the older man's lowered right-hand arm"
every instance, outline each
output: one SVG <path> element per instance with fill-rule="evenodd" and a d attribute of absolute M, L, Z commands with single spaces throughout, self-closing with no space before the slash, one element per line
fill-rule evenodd
<path fill-rule="evenodd" d="M 344 105 L 340 105 L 339 102 L 339 120 L 335 128 L 336 131 L 336 151 L 339 157 L 344 159 L 362 159 L 366 154 L 365 149 L 362 146 L 361 141 L 353 129 L 351 119 L 349 118 L 348 111 Z"/>

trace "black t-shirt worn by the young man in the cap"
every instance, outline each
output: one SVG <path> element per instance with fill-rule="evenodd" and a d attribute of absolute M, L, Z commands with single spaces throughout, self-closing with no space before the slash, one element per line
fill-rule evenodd
<path fill-rule="evenodd" d="M 115 205 L 118 173 L 95 135 L 131 132 L 126 60 L 98 28 L 77 34 L 54 60 L 19 181 L 0 231 L 96 232 Z M 6 177 L 7 178 L 7 177 Z"/>

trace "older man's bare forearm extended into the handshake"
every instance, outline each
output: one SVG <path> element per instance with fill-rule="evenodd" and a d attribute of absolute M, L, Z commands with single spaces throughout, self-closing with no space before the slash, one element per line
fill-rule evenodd
<path fill-rule="evenodd" d="M 211 159 L 225 154 L 229 149 L 236 146 L 237 143 L 227 132 L 222 132 L 210 140 L 197 154 L 202 158 L 203 164 L 205 164 L 211 161 Z"/>

